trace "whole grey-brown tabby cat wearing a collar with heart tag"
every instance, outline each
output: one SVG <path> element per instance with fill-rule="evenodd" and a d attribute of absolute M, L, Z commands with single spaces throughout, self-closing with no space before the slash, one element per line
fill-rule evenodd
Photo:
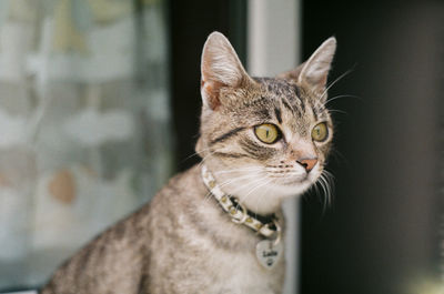
<path fill-rule="evenodd" d="M 252 78 L 229 40 L 201 60 L 200 164 L 56 271 L 41 294 L 282 293 L 281 203 L 322 176 L 333 123 L 330 38 L 296 69 Z"/>

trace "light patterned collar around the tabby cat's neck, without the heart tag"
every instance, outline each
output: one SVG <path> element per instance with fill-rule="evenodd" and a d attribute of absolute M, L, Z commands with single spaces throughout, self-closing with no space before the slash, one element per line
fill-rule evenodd
<path fill-rule="evenodd" d="M 234 223 L 243 224 L 265 237 L 276 235 L 276 241 L 281 237 L 281 226 L 274 214 L 260 215 L 249 211 L 235 196 L 228 195 L 220 189 L 214 176 L 204 164 L 202 164 L 201 171 L 206 189 Z"/>

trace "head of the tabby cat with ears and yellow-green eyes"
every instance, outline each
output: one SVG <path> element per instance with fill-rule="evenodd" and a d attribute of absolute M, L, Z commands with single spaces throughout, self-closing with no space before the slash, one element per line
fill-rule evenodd
<path fill-rule="evenodd" d="M 252 78 L 223 34 L 208 38 L 196 152 L 221 189 L 248 209 L 273 212 L 322 180 L 333 136 L 325 101 L 335 48 L 330 38 L 295 70 Z"/>

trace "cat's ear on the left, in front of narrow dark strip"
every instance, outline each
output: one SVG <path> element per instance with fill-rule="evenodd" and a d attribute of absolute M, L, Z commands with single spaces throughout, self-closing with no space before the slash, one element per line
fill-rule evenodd
<path fill-rule="evenodd" d="M 230 41 L 220 32 L 211 33 L 203 45 L 201 61 L 204 107 L 216 110 L 221 105 L 221 88 L 239 88 L 250 79 Z"/>

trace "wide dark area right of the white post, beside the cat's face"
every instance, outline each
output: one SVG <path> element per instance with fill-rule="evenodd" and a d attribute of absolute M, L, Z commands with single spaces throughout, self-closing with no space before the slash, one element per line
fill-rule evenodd
<path fill-rule="evenodd" d="M 304 57 L 335 36 L 331 81 L 352 72 L 330 97 L 352 97 L 329 104 L 346 112 L 334 112 L 333 205 L 303 200 L 301 293 L 426 293 L 440 263 L 444 2 L 310 0 L 302 14 Z"/>

